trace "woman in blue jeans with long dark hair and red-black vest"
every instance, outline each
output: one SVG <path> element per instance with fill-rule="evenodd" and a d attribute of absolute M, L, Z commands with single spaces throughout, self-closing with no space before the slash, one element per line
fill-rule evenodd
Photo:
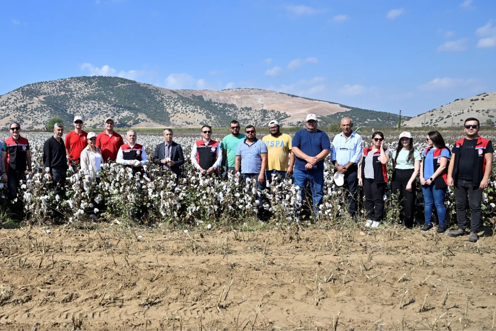
<path fill-rule="evenodd" d="M 420 184 L 424 194 L 424 213 L 426 218 L 422 231 L 429 231 L 433 228 L 431 219 L 435 205 L 437 218 L 439 219 L 437 233 L 443 233 L 446 231 L 444 197 L 448 188 L 446 175 L 450 152 L 441 133 L 431 131 L 427 134 L 426 140 L 429 147 L 422 153 L 423 158 L 420 165 Z"/>

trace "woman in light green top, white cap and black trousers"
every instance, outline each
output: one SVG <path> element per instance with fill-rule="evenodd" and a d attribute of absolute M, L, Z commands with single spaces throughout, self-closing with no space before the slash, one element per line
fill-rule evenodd
<path fill-rule="evenodd" d="M 410 132 L 401 132 L 392 159 L 391 191 L 398 195 L 398 200 L 403 206 L 403 223 L 411 229 L 414 222 L 416 184 L 421 157 L 420 152 L 413 148 L 413 136 Z"/>

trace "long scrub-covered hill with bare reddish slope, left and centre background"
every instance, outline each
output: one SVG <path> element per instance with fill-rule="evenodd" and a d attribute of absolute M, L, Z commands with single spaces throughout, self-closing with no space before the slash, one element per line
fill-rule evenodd
<path fill-rule="evenodd" d="M 265 126 L 277 119 L 286 126 L 301 126 L 309 113 L 317 114 L 321 125 L 344 116 L 357 125 L 387 125 L 385 112 L 286 93 L 249 88 L 171 90 L 108 76 L 38 82 L 0 96 L 0 128 L 17 121 L 25 129 L 42 129 L 51 117 L 71 123 L 75 114 L 94 128 L 101 128 L 108 116 L 117 127 L 227 127 L 232 119 L 242 125 Z M 395 124 L 397 116 L 391 115 L 390 121 Z"/>

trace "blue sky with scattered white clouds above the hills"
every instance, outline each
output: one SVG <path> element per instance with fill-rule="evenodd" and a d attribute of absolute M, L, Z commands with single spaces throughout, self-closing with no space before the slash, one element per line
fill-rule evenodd
<path fill-rule="evenodd" d="M 0 94 L 71 76 L 416 115 L 496 90 L 496 1 L 4 1 Z"/>

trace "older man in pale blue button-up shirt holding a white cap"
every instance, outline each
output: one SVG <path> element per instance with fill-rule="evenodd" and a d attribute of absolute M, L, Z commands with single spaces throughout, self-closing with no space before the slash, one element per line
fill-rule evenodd
<path fill-rule="evenodd" d="M 341 133 L 332 140 L 331 162 L 336 170 L 344 175 L 344 185 L 348 190 L 348 210 L 355 216 L 355 191 L 358 185 L 358 162 L 362 158 L 362 136 L 353 132 L 353 122 L 345 117 L 341 119 Z"/>

